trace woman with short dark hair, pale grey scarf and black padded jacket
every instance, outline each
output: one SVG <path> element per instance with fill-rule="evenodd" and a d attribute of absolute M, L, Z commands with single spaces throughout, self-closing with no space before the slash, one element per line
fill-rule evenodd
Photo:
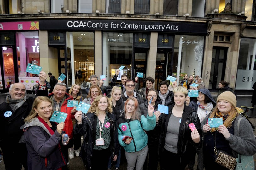
<path fill-rule="evenodd" d="M 169 83 L 167 81 L 162 81 L 160 83 L 160 91 L 158 92 L 159 104 L 169 106 L 173 103 L 173 92 L 168 90 Z"/>

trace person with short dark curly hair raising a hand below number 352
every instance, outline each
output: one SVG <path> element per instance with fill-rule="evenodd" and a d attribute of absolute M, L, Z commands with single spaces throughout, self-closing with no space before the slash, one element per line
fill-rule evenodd
<path fill-rule="evenodd" d="M 155 80 L 152 78 L 152 77 L 146 77 L 144 79 L 144 82 L 146 83 L 146 87 L 143 87 L 141 89 L 138 90 L 138 77 L 135 77 L 134 80 L 135 80 L 135 91 L 137 91 L 137 93 L 139 93 L 141 96 L 142 96 L 142 99 L 143 101 L 147 101 L 147 92 L 148 92 L 148 89 L 151 89 L 153 88 L 153 84 L 155 82 Z"/>

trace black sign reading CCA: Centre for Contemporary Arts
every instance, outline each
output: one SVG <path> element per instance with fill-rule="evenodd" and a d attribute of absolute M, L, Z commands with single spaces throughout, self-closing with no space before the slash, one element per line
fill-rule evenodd
<path fill-rule="evenodd" d="M 40 30 L 122 30 L 207 33 L 207 23 L 127 20 L 40 20 Z"/>

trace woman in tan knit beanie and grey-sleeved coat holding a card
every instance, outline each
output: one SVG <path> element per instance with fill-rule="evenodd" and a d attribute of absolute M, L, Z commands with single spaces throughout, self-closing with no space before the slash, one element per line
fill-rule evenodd
<path fill-rule="evenodd" d="M 222 118 L 223 124 L 211 128 L 208 124 L 208 118 Z M 238 131 L 239 118 L 241 116 L 236 112 L 236 96 L 230 91 L 221 93 L 217 98 L 216 107 L 201 123 L 204 135 L 203 153 L 206 170 L 226 170 L 225 167 L 214 161 L 214 147 L 217 151 L 223 150 L 235 158 L 237 158 L 238 153 L 242 155 L 254 155 L 256 153 L 253 129 L 250 123 L 242 118 Z"/>

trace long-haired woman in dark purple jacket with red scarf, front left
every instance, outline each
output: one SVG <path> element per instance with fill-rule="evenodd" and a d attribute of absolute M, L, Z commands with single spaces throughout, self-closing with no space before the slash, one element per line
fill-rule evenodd
<path fill-rule="evenodd" d="M 29 170 L 61 169 L 67 163 L 60 147 L 65 124 L 50 122 L 52 113 L 51 100 L 46 96 L 38 96 L 30 114 L 24 120 Z"/>

